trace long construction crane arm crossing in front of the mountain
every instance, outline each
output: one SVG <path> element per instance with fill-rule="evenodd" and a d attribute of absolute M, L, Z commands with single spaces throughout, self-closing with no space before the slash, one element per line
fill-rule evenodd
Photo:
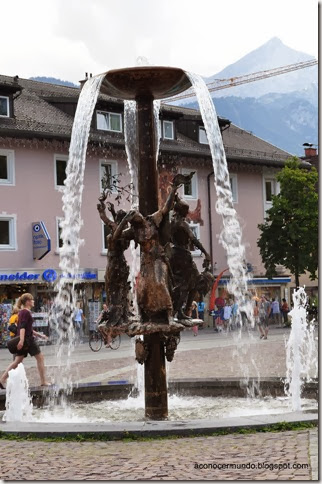
<path fill-rule="evenodd" d="M 289 64 L 287 66 L 275 67 L 274 69 L 268 69 L 266 71 L 252 72 L 243 76 L 231 77 L 228 79 L 215 79 L 212 82 L 207 83 L 209 92 L 219 91 L 220 89 L 227 89 L 228 87 L 239 86 L 240 84 L 246 84 L 248 82 L 255 82 L 261 79 L 267 79 L 268 77 L 280 76 L 287 72 L 297 71 L 298 69 L 306 69 L 318 64 L 318 61 L 312 59 L 310 61 L 297 62 L 296 64 Z M 179 99 L 185 99 L 194 97 L 195 92 L 192 88 L 188 89 L 184 94 L 179 94 L 167 99 L 167 103 L 170 101 L 178 101 Z"/>

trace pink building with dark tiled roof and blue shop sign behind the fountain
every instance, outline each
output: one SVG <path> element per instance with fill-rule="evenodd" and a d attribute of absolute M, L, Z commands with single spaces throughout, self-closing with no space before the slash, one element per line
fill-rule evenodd
<path fill-rule="evenodd" d="M 36 296 L 38 311 L 47 311 L 53 297 L 52 279 L 60 274 L 63 182 L 78 96 L 77 88 L 0 76 L 0 303 L 13 302 L 28 291 Z M 122 185 L 130 181 L 123 122 L 123 104 L 100 95 L 92 120 L 82 205 L 84 245 L 78 288 L 85 307 L 90 301 L 101 302 L 105 291 L 104 227 L 96 209 L 101 178 L 108 169 L 112 175 L 123 174 Z M 175 173 L 196 172 L 191 184 L 181 188 L 181 195 L 191 207 L 195 233 L 211 254 L 214 273 L 219 274 L 226 268 L 225 251 L 218 242 L 222 221 L 215 210 L 212 161 L 200 113 L 164 104 L 160 123 L 160 199 Z M 290 155 L 229 120 L 219 118 L 219 124 L 254 287 L 259 294 L 289 299 L 291 276 L 279 267 L 279 277 L 268 280 L 256 241 L 257 226 L 279 189 L 276 173 Z M 122 208 L 128 209 L 129 202 L 123 199 Z M 50 238 L 50 251 L 41 259 L 34 258 L 35 222 L 44 224 Z M 203 257 L 197 250 L 193 254 L 201 269 Z"/>

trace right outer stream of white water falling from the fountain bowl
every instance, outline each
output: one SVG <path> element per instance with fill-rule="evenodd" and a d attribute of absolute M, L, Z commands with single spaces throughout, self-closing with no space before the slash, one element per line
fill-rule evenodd
<path fill-rule="evenodd" d="M 216 109 L 203 79 L 196 74 L 188 72 L 186 74 L 189 77 L 197 96 L 212 156 L 215 189 L 217 194 L 216 211 L 221 215 L 223 222 L 223 229 L 220 233 L 219 242 L 226 251 L 227 263 L 231 274 L 231 278 L 227 284 L 227 290 L 234 295 L 235 301 L 238 304 L 238 320 L 241 321 L 240 311 L 245 311 L 247 319 L 251 323 L 251 328 L 254 328 L 255 320 L 253 316 L 253 308 L 251 300 L 248 297 L 247 282 L 249 280 L 249 275 L 247 274 L 245 267 L 245 246 L 242 243 L 242 230 L 233 204 L 226 154 L 218 124 Z M 245 341 L 244 344 L 241 345 L 241 332 L 242 325 L 240 325 L 239 332 L 236 333 L 236 337 L 239 339 L 239 344 L 236 345 L 236 354 L 234 356 L 238 357 L 240 370 L 243 373 L 241 384 L 246 385 L 248 387 L 248 393 L 253 395 L 258 391 L 260 375 L 256 362 L 252 358 L 250 359 L 250 363 L 254 374 L 250 375 L 250 341 Z M 248 336 L 249 338 L 253 338 L 253 335 L 250 332 L 248 332 Z M 247 358 L 246 362 L 244 361 L 245 355 Z M 255 375 L 257 376 L 257 382 L 252 380 L 252 383 L 249 386 L 249 377 Z"/>

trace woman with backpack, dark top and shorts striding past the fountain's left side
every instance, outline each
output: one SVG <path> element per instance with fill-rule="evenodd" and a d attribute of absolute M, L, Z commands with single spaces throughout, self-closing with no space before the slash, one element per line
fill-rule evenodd
<path fill-rule="evenodd" d="M 17 368 L 19 363 L 21 363 L 28 353 L 30 356 L 34 356 L 37 361 L 38 373 L 40 376 L 41 386 L 48 386 L 49 383 L 46 381 L 46 371 L 44 355 L 41 353 L 39 345 L 35 339 L 35 336 L 47 340 L 48 337 L 42 333 L 38 333 L 33 329 L 33 318 L 31 315 L 31 310 L 34 307 L 35 301 L 32 294 L 24 293 L 20 296 L 17 302 L 17 307 L 19 310 L 18 314 L 18 325 L 17 325 L 17 336 L 20 336 L 19 343 L 17 345 L 17 353 L 14 361 L 8 366 L 0 378 L 0 388 L 5 389 L 5 382 L 7 381 L 8 374 L 10 370 Z M 25 346 L 27 343 L 27 347 Z"/>

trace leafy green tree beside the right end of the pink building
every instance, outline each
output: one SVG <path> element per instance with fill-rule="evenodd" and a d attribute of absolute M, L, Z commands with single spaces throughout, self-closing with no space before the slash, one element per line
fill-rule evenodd
<path fill-rule="evenodd" d="M 293 157 L 276 178 L 281 190 L 272 197 L 265 222 L 258 225 L 257 245 L 267 276 L 276 275 L 277 264 L 284 265 L 299 287 L 300 274 L 307 271 L 313 280 L 318 268 L 318 173 L 314 167 L 300 168 Z"/>

